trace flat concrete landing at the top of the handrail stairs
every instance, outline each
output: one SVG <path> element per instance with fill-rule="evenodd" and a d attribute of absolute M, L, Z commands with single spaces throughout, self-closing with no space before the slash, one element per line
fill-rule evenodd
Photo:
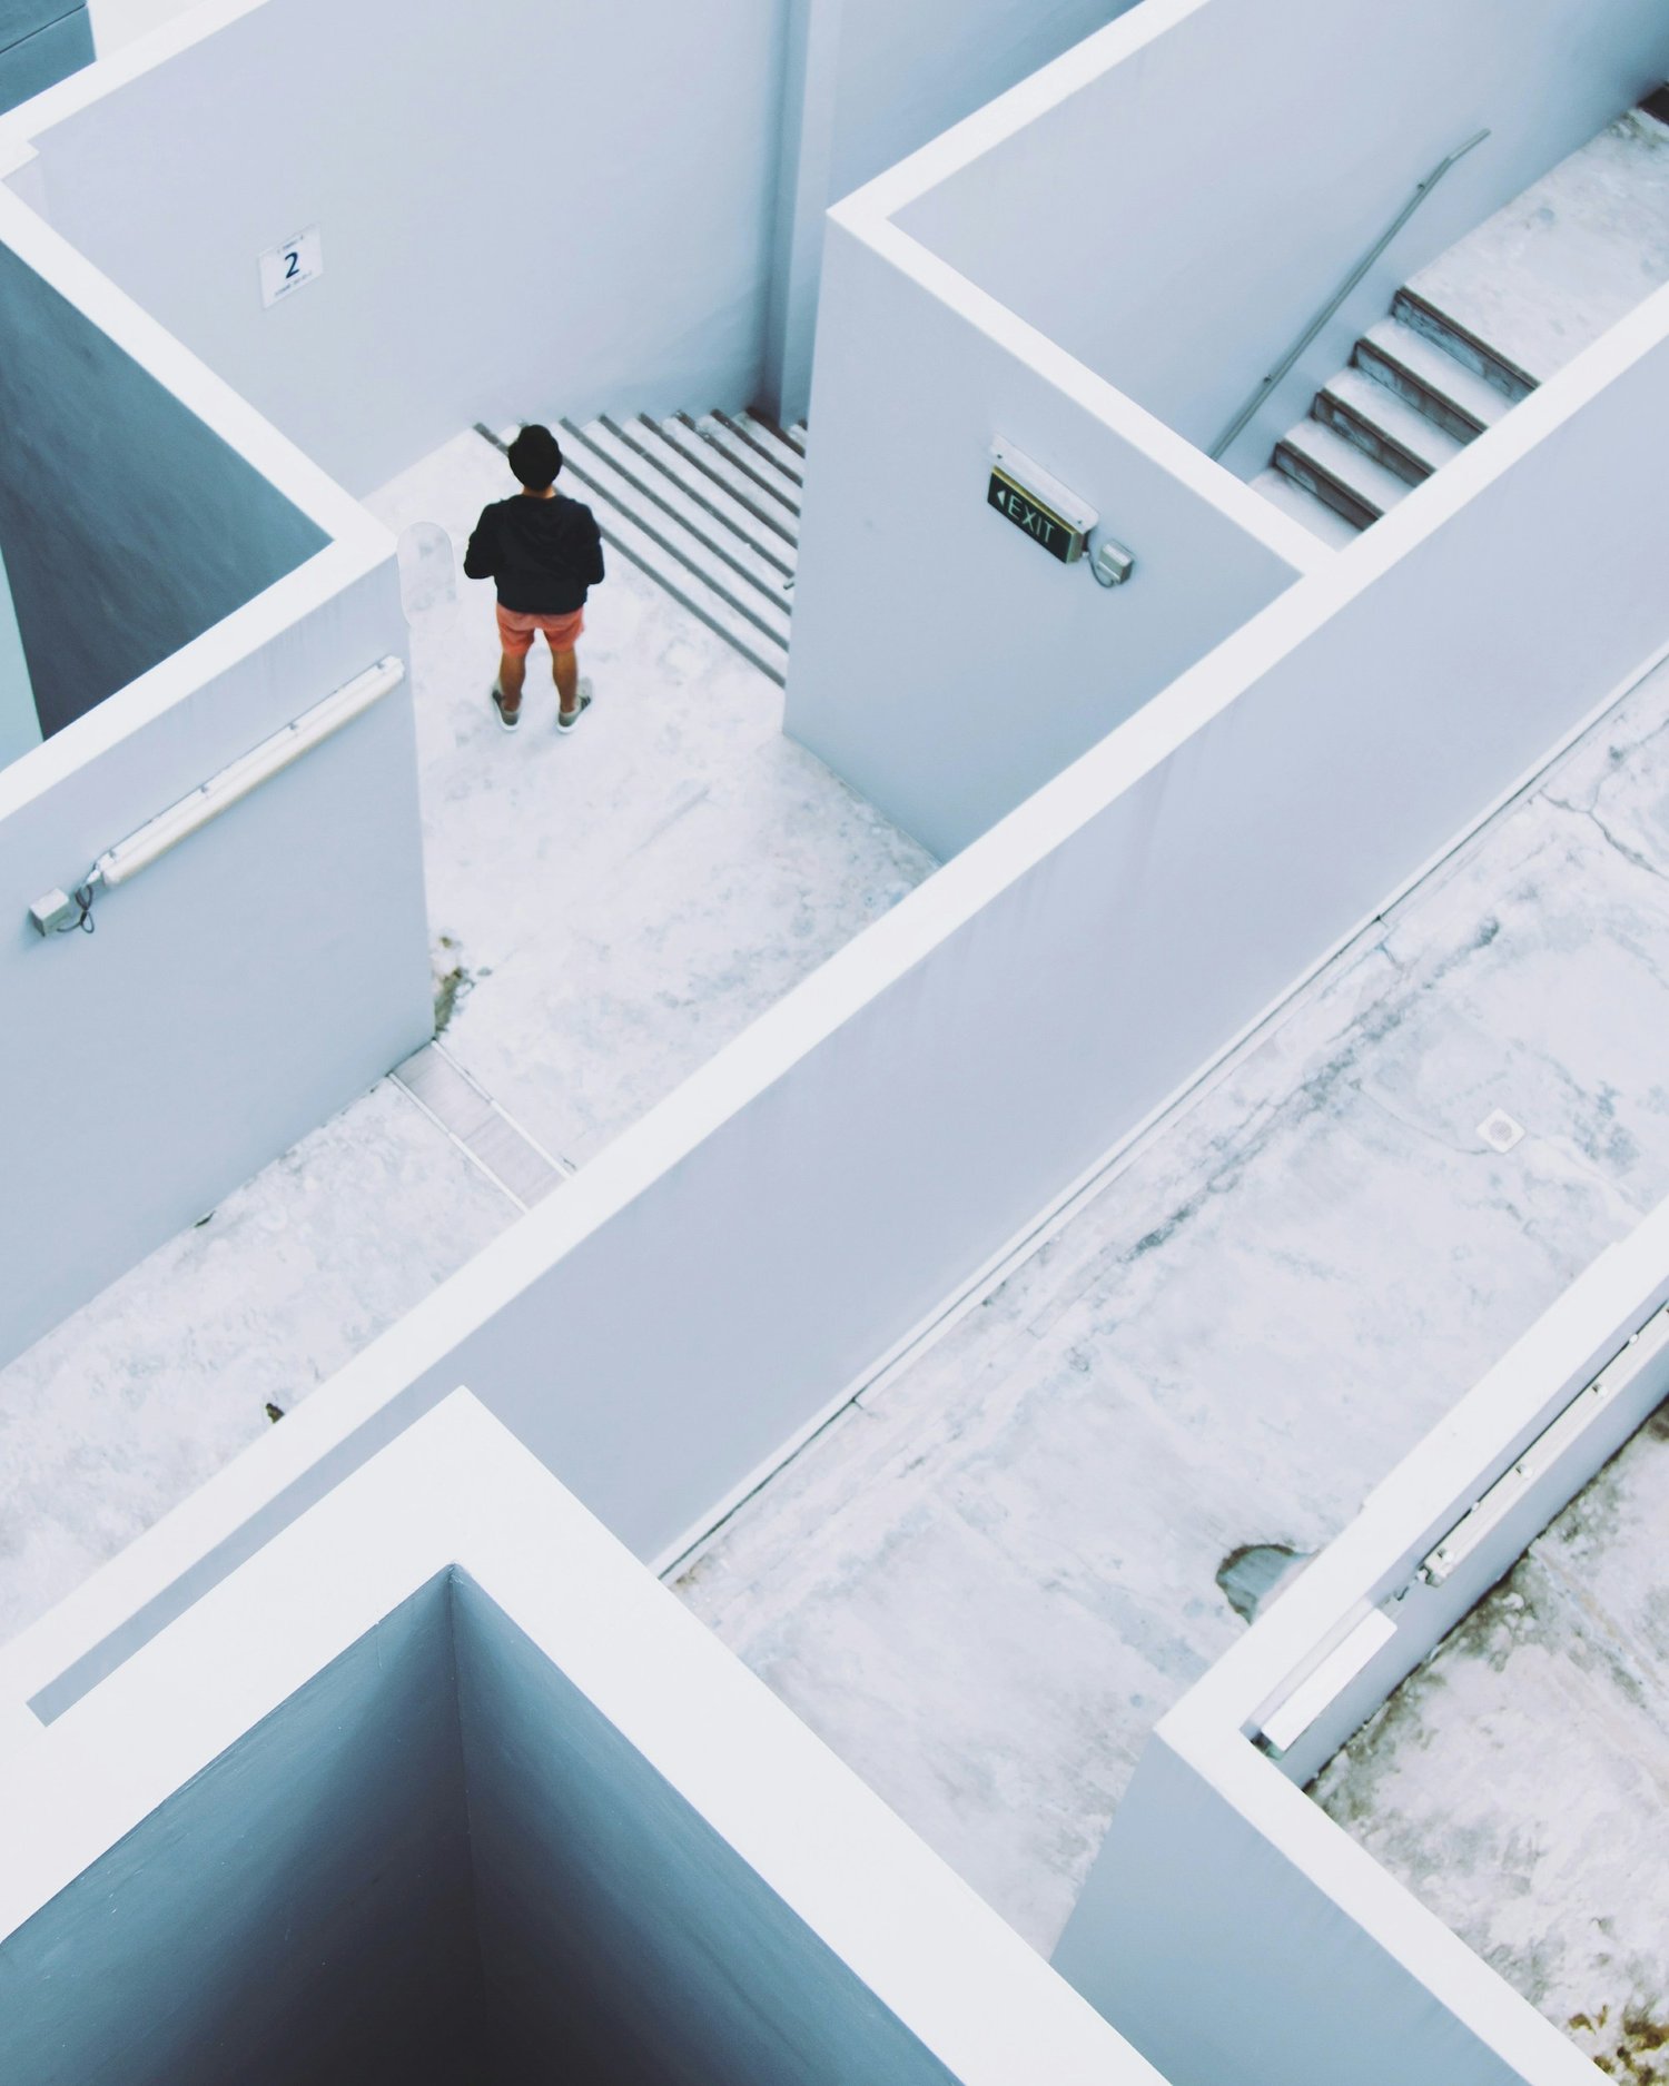
<path fill-rule="evenodd" d="M 1669 282 L 1669 131 L 1608 123 L 1408 288 L 1544 382 Z"/>

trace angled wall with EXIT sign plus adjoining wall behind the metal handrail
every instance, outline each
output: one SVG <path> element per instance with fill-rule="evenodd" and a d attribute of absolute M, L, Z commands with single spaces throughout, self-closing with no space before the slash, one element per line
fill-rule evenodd
<path fill-rule="evenodd" d="M 851 196 L 789 730 L 943 857 L 1356 557 L 1202 451 L 1446 152 L 1490 129 L 1231 461 L 1266 463 L 1412 269 L 1665 71 L 1656 0 L 1150 0 Z M 1129 584 L 991 511 L 997 440 L 1099 513 Z"/>

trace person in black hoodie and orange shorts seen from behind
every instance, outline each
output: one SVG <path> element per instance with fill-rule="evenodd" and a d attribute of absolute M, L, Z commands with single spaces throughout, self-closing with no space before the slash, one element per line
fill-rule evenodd
<path fill-rule="evenodd" d="M 499 678 L 488 690 L 499 724 L 522 722 L 522 684 L 534 632 L 551 647 L 557 684 L 557 730 L 572 732 L 590 707 L 590 682 L 580 680 L 576 642 L 586 626 L 586 595 L 603 578 L 597 515 L 557 492 L 561 448 L 549 428 L 524 428 L 509 444 L 509 467 L 522 490 L 482 509 L 463 572 L 499 584 Z"/>

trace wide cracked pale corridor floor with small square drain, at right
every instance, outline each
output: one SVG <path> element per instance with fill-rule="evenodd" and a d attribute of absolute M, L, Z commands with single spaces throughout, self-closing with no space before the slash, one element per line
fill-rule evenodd
<path fill-rule="evenodd" d="M 1669 1191 L 1667 876 L 1659 674 L 682 1575 L 1037 1946 L 1220 1564 L 1335 1535 Z"/>

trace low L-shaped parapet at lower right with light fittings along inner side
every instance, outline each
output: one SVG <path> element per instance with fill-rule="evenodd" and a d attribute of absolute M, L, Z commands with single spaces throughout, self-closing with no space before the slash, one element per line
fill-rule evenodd
<path fill-rule="evenodd" d="M 1154 1731 L 1054 1961 L 1172 2080 L 1594 2078 L 1304 1784 L 1663 1402 L 1669 1343 L 1640 1335 L 1665 1300 L 1669 1206 L 1531 1327 Z M 1521 1460 L 1525 1477 L 1494 1489 Z M 1479 1533 L 1454 1544 L 1485 1496 Z M 1446 1542 L 1454 1569 L 1431 1583 L 1423 1560 Z"/>

